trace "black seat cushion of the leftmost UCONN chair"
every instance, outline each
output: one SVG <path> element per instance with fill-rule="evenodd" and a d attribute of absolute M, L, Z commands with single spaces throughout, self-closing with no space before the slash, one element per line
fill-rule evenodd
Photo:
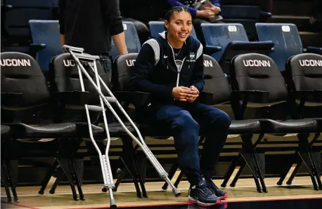
<path fill-rule="evenodd" d="M 25 123 L 8 123 L 13 137 L 63 137 L 75 135 L 77 128 L 74 123 L 52 123 L 42 126 L 29 126 Z"/>

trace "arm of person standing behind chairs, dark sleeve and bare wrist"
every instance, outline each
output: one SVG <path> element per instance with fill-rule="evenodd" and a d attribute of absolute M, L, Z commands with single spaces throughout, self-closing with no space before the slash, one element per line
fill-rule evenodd
<path fill-rule="evenodd" d="M 125 43 L 119 3 L 119 0 L 101 0 L 101 8 L 104 22 L 110 28 L 110 36 L 112 36 L 119 54 L 123 55 L 127 53 L 127 43 Z"/>

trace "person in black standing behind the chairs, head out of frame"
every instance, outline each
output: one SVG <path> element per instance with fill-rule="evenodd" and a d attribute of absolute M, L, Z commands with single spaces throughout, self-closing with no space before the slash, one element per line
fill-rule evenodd
<path fill-rule="evenodd" d="M 119 0 L 59 0 L 62 44 L 98 55 L 111 79 L 111 38 L 120 55 L 127 53 Z"/>

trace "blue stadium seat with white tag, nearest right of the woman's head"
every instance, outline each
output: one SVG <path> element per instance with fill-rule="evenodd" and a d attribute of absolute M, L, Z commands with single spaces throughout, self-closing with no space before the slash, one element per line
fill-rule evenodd
<path fill-rule="evenodd" d="M 212 57 L 215 58 L 217 62 L 219 62 L 228 43 L 232 41 L 248 41 L 245 28 L 239 23 L 202 23 L 201 28 L 207 46 L 221 47 L 221 51 L 212 54 Z"/>

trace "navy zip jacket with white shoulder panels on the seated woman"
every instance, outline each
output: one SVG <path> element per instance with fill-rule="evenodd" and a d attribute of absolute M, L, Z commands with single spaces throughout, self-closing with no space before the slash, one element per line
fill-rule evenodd
<path fill-rule="evenodd" d="M 184 60 L 178 70 L 166 37 L 166 32 L 162 32 L 143 43 L 130 81 L 131 90 L 151 93 L 153 102 L 162 104 L 173 101 L 172 89 L 176 86 L 195 86 L 201 93 L 205 85 L 200 41 L 192 36 L 186 39 Z"/>

